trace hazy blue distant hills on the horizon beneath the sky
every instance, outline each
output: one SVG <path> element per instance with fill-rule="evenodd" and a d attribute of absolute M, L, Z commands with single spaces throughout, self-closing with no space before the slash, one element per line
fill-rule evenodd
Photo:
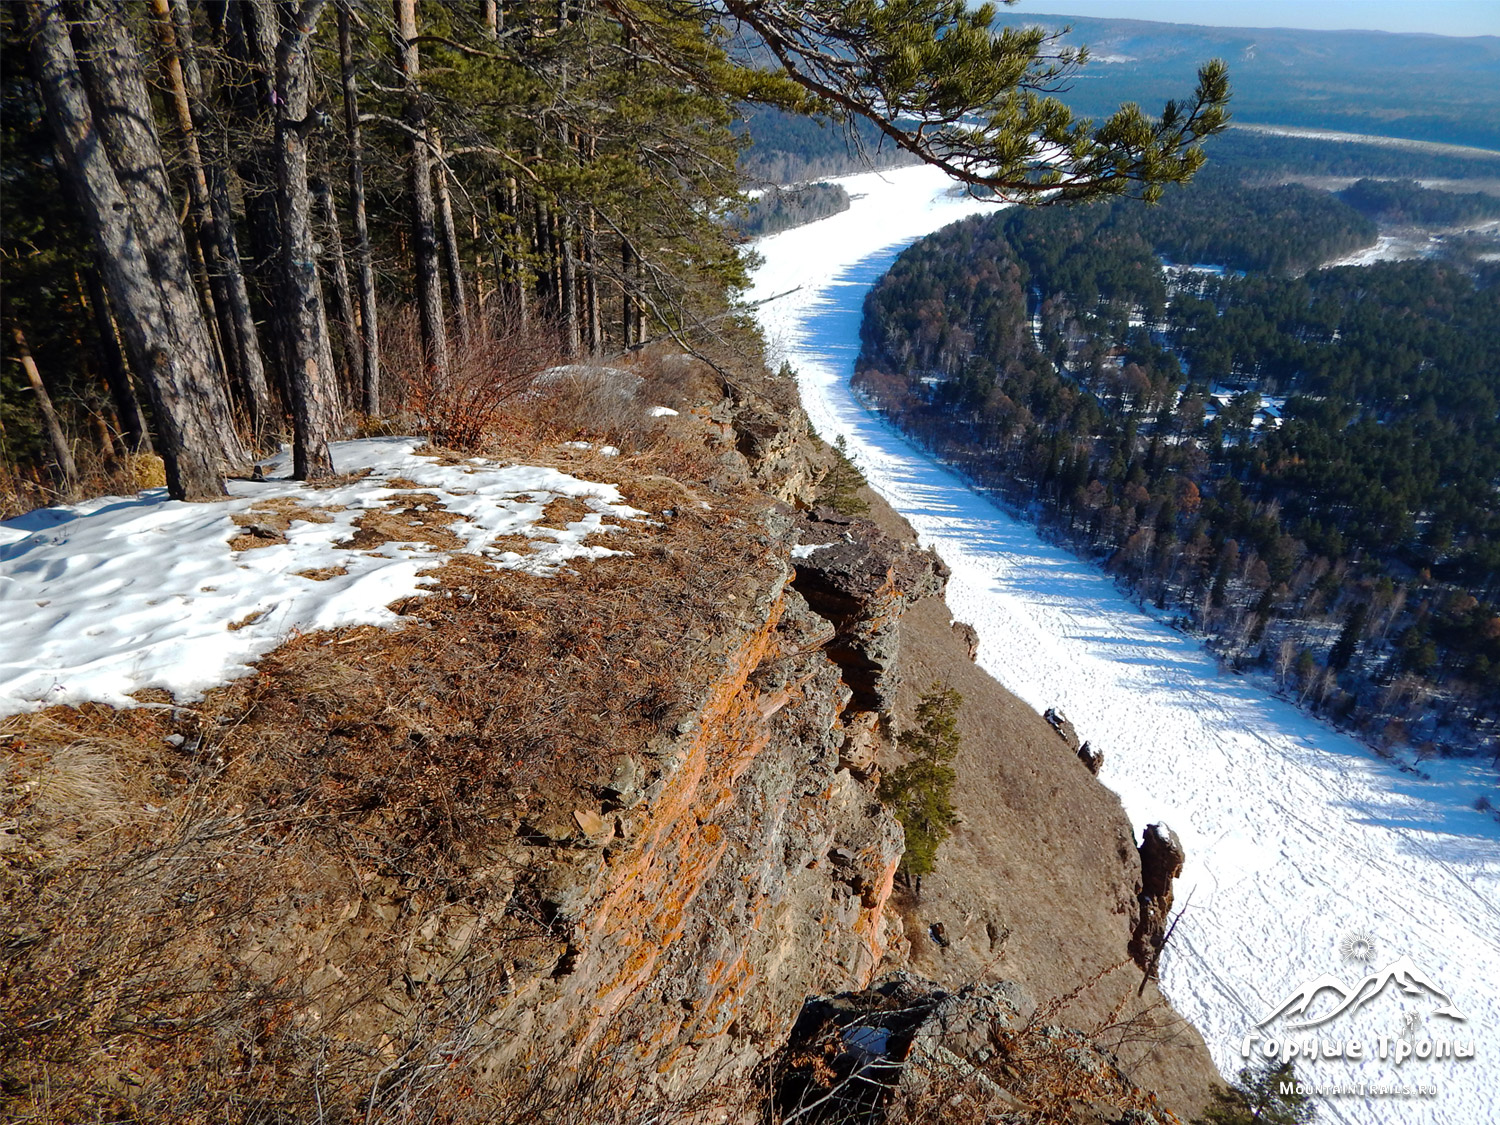
<path fill-rule="evenodd" d="M 1198 27 L 1000 12 L 996 24 L 1066 27 L 1092 62 L 1064 94 L 1102 116 L 1120 102 L 1160 112 L 1191 93 L 1197 66 L 1224 58 L 1242 123 L 1500 148 L 1500 38 Z"/>

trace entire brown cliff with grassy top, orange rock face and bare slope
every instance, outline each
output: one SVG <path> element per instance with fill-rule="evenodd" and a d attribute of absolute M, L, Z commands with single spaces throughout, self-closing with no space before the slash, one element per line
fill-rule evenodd
<path fill-rule="evenodd" d="M 642 393 L 716 386 L 684 364 Z M 12 1108 L 753 1114 L 808 998 L 908 968 L 924 1011 L 1005 981 L 1005 1050 L 1086 1046 L 1100 1104 L 1155 1113 L 1130 1076 L 1196 1107 L 1202 1044 L 1126 996 L 1119 802 L 972 664 L 904 524 L 819 506 L 786 380 L 710 399 L 590 465 L 650 516 L 620 556 L 453 562 L 405 628 L 294 638 L 201 704 L 8 722 Z M 966 699 L 963 819 L 918 898 L 876 789 L 934 680 Z"/>

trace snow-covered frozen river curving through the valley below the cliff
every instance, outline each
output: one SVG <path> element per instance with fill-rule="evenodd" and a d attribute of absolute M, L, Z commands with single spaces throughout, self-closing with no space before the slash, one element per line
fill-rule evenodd
<path fill-rule="evenodd" d="M 849 390 L 867 288 L 914 238 L 984 210 L 910 168 L 843 182 L 850 210 L 758 243 L 752 300 L 798 370 L 818 432 L 843 436 L 870 483 L 952 567 L 948 604 L 980 630 L 980 663 L 1035 706 L 1060 708 L 1104 748 L 1104 783 L 1137 826 L 1166 822 L 1188 866 L 1162 986 L 1234 1074 L 1257 1023 L 1324 974 L 1356 987 L 1407 956 L 1467 1016 L 1410 980 L 1318 1028 L 1328 1041 L 1410 1034 L 1474 1058 L 1298 1060 L 1304 1080 L 1436 1088 L 1317 1098 L 1320 1120 L 1500 1120 L 1500 825 L 1473 808 L 1484 765 L 1396 771 L 1140 614 L 1101 573 L 1044 543 L 867 411 Z M 858 198 L 862 194 L 864 198 Z M 1066 816 L 1066 810 L 1059 810 Z M 1356 963 L 1347 948 L 1372 954 Z M 1371 950 L 1372 946 L 1372 950 Z M 1323 992 L 1314 1011 L 1332 1006 Z M 1408 1020 L 1412 1022 L 1408 1024 Z M 1286 1018 L 1262 1035 L 1284 1040 Z M 1299 1032 L 1306 1035 L 1308 1032 Z M 1258 1044 L 1257 1044 L 1258 1046 Z"/>

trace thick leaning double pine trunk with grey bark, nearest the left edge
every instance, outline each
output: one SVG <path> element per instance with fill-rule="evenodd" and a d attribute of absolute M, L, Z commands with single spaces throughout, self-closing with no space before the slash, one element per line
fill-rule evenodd
<path fill-rule="evenodd" d="M 219 496 L 224 474 L 248 458 L 194 292 L 140 58 L 112 6 L 80 8 L 82 18 L 70 28 L 60 0 L 27 4 L 38 86 L 130 363 L 152 398 L 168 490 L 177 500 Z"/>

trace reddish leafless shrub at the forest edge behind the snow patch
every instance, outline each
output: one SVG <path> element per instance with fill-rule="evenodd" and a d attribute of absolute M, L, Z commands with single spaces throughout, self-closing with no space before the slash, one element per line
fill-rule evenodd
<path fill-rule="evenodd" d="M 550 324 L 494 314 L 476 318 L 468 342 L 450 333 L 448 374 L 440 380 L 423 354 L 416 312 L 398 310 L 387 322 L 381 358 L 400 386 L 404 408 L 440 446 L 483 448 L 507 428 L 537 374 L 558 363 Z"/>

